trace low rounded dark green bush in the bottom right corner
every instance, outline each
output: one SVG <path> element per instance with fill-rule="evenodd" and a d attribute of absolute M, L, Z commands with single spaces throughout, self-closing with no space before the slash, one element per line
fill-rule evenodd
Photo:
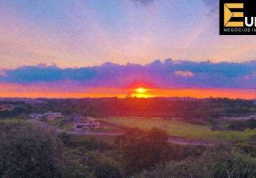
<path fill-rule="evenodd" d="M 137 178 L 198 177 L 198 178 L 252 178 L 256 176 L 256 159 L 234 152 L 227 147 L 217 147 L 205 152 L 199 159 L 158 165 L 145 170 Z"/>

